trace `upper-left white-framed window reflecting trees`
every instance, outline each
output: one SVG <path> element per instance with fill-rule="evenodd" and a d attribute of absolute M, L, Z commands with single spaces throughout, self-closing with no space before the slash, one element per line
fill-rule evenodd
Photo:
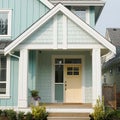
<path fill-rule="evenodd" d="M 0 10 L 0 36 L 11 36 L 11 10 Z"/>

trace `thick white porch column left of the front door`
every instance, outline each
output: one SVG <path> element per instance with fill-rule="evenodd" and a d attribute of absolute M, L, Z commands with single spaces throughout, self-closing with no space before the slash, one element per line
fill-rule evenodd
<path fill-rule="evenodd" d="M 19 81 L 18 81 L 18 107 L 27 107 L 27 78 L 28 78 L 28 50 L 20 50 Z"/>

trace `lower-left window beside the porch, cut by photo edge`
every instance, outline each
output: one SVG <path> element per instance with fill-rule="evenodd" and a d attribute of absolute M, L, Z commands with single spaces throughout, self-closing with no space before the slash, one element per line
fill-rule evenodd
<path fill-rule="evenodd" d="M 4 55 L 0 54 L 0 98 L 1 97 L 8 97 L 8 77 L 7 77 L 7 58 Z"/>

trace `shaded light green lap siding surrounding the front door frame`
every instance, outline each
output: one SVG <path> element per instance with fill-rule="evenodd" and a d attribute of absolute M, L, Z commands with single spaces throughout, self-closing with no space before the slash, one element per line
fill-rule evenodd
<path fill-rule="evenodd" d="M 40 93 L 41 102 L 52 102 L 52 55 L 84 55 L 84 82 L 85 82 L 85 102 L 92 102 L 92 66 L 90 52 L 48 52 L 42 51 L 38 54 L 38 78 L 36 89 Z"/>

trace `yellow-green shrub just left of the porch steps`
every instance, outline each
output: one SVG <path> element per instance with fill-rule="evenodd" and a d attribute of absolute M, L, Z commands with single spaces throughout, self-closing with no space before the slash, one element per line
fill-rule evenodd
<path fill-rule="evenodd" d="M 32 115 L 35 120 L 47 120 L 48 113 L 45 106 L 32 106 Z"/>

